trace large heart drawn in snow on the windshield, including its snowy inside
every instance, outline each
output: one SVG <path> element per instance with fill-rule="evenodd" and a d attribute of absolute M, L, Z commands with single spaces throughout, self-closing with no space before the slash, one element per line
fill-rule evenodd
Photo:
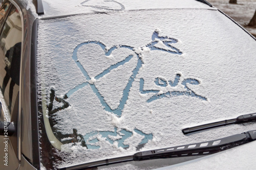
<path fill-rule="evenodd" d="M 99 41 L 79 44 L 73 59 L 106 111 L 118 116 L 142 62 L 132 46 L 106 47 Z"/>

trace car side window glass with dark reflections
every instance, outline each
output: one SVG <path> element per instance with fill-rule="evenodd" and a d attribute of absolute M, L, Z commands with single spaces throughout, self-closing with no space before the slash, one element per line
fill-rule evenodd
<path fill-rule="evenodd" d="M 12 113 L 19 91 L 22 21 L 12 6 L 0 36 L 0 87 Z"/>

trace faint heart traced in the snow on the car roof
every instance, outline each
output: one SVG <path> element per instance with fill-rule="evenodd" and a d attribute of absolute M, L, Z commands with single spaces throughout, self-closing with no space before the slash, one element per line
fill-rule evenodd
<path fill-rule="evenodd" d="M 87 0 L 81 3 L 84 7 L 92 7 L 96 9 L 105 9 L 105 10 L 113 10 L 113 11 L 122 11 L 124 10 L 124 6 L 116 2 L 114 0 Z"/>

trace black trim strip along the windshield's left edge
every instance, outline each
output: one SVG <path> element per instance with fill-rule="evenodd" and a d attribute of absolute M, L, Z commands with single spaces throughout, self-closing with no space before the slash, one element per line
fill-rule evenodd
<path fill-rule="evenodd" d="M 37 109 L 37 86 L 36 86 L 36 44 L 37 44 L 38 18 L 32 25 L 31 56 L 30 56 L 30 104 L 31 104 L 31 130 L 32 130 L 32 165 L 40 169 L 39 137 L 38 137 L 38 109 Z"/>

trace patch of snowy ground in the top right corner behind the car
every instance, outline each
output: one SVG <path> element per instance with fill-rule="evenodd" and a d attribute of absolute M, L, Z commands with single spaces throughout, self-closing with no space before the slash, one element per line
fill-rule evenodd
<path fill-rule="evenodd" d="M 238 4 L 229 4 L 229 0 L 208 0 L 208 2 L 236 20 L 256 37 L 256 27 L 247 26 L 256 10 L 256 0 L 238 0 Z"/>

